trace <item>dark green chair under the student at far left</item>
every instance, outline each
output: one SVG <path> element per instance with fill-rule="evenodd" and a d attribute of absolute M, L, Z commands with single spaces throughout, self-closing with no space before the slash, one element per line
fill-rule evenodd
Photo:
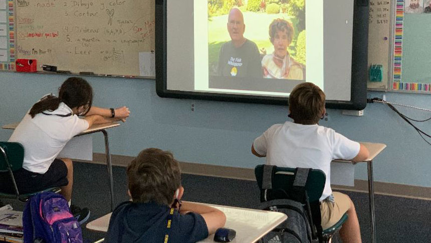
<path fill-rule="evenodd" d="M 17 183 L 14 177 L 14 171 L 17 171 L 23 167 L 24 160 L 24 147 L 20 143 L 12 143 L 12 142 L 0 142 L 0 172 L 7 172 L 11 176 L 11 183 L 14 185 L 15 194 L 1 193 L 0 197 L 9 198 L 9 199 L 18 199 L 22 202 L 26 202 L 29 198 L 35 194 L 44 192 L 44 191 L 52 191 L 52 192 L 60 192 L 61 189 L 59 187 L 47 188 L 43 191 L 20 194 Z"/>

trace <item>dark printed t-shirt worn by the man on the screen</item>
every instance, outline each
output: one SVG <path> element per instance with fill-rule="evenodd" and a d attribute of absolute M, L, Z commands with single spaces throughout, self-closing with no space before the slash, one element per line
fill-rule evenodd
<path fill-rule="evenodd" d="M 250 41 L 236 48 L 232 41 L 223 44 L 219 54 L 217 74 L 225 77 L 262 78 L 262 64 L 258 46 Z"/>

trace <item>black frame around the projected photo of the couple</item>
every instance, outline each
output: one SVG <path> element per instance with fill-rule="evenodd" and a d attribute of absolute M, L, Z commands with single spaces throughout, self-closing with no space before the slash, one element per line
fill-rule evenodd
<path fill-rule="evenodd" d="M 167 89 L 167 1 L 169 0 L 156 0 L 155 4 L 156 92 L 160 97 L 276 105 L 288 104 L 286 97 Z M 368 74 L 368 4 L 368 0 L 354 0 L 350 100 L 326 100 L 327 108 L 362 110 L 366 106 Z"/>

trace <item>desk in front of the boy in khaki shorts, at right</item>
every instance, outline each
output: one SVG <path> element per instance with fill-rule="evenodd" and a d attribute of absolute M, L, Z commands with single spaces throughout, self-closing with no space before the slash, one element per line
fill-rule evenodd
<path fill-rule="evenodd" d="M 374 214 L 374 181 L 373 181 L 373 159 L 386 148 L 385 144 L 376 144 L 376 143 L 362 143 L 368 151 L 369 157 L 361 162 L 366 162 L 368 164 L 368 198 L 369 198 L 369 207 L 370 207 L 370 224 L 371 224 L 371 242 L 376 242 L 375 235 L 375 214 Z M 341 163 L 352 163 L 351 161 L 346 160 L 334 160 L 333 162 L 341 162 Z"/>

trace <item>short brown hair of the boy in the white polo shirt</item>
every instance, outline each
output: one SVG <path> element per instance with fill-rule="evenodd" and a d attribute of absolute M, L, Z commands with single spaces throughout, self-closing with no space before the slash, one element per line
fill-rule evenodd
<path fill-rule="evenodd" d="M 295 123 L 317 124 L 325 110 L 325 93 L 310 82 L 300 83 L 289 96 L 289 110 Z"/>

